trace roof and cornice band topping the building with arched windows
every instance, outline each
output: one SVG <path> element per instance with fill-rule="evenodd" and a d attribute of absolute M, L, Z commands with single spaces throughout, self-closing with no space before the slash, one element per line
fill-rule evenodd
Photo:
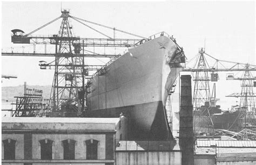
<path fill-rule="evenodd" d="M 116 132 L 119 118 L 2 118 L 5 132 Z"/>

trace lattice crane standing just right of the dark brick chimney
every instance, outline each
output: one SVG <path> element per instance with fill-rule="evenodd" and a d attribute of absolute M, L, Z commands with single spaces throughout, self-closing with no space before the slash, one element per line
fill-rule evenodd
<path fill-rule="evenodd" d="M 210 57 L 214 63 L 212 66 L 208 64 L 206 56 Z M 225 63 L 225 64 L 224 64 Z M 227 64 L 232 64 L 230 67 L 227 67 Z M 233 71 L 244 71 L 245 73 L 250 71 L 256 71 L 256 65 L 249 65 L 243 63 L 236 63 L 233 61 L 220 60 L 216 59 L 209 54 L 205 53 L 204 48 L 199 50 L 198 55 L 196 56 L 196 63 L 193 67 L 186 67 L 183 69 L 183 72 L 196 72 L 194 75 L 194 92 L 193 92 L 193 107 L 194 115 L 199 116 L 197 123 L 194 125 L 194 130 L 199 132 L 204 132 L 205 129 L 208 129 L 209 126 L 214 128 L 212 119 L 211 119 L 211 107 L 215 106 L 215 103 L 218 99 L 215 98 L 215 95 L 212 97 L 210 93 L 210 81 L 218 81 L 219 76 L 218 72 L 233 72 Z M 209 77 L 209 72 L 211 72 L 211 77 Z M 252 83 L 250 83 L 252 84 Z M 251 85 L 250 85 L 251 86 Z M 213 91 L 215 91 L 215 84 Z M 215 94 L 215 93 L 214 93 Z M 236 96 L 238 96 L 236 94 Z M 231 97 L 231 96 L 230 96 Z M 244 98 L 244 97 L 242 97 Z M 203 107 L 202 107 L 203 106 Z M 200 111 L 201 108 L 201 111 Z M 208 116 L 210 122 L 205 120 L 202 115 Z"/>

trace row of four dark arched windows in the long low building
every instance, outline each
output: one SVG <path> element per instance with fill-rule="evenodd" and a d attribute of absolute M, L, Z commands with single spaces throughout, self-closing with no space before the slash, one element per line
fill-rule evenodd
<path fill-rule="evenodd" d="M 52 140 L 44 139 L 39 141 L 41 145 L 41 160 L 52 160 Z M 98 159 L 98 143 L 99 141 L 90 139 L 86 140 L 86 159 Z M 63 159 L 75 160 L 76 141 L 67 139 L 62 141 L 63 144 Z M 12 139 L 3 140 L 4 145 L 4 160 L 15 160 L 15 145 L 16 141 Z"/>

